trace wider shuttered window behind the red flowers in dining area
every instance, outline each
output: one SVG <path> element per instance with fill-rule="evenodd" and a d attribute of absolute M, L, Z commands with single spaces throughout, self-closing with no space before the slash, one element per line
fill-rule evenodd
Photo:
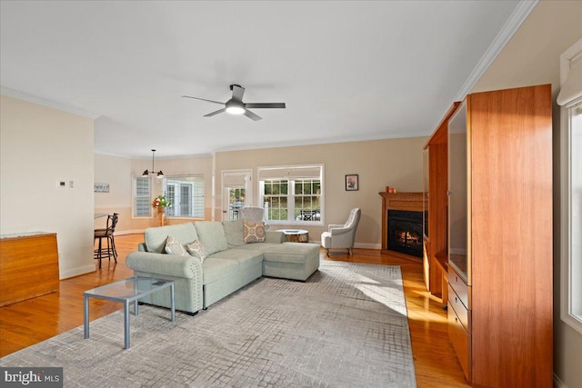
<path fill-rule="evenodd" d="M 167 177 L 164 193 L 169 217 L 204 218 L 204 175 Z"/>

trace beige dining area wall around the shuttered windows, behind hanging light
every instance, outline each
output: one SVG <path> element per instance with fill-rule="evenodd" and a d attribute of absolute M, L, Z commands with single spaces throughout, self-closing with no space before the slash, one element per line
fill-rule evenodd
<path fill-rule="evenodd" d="M 205 219 L 210 219 L 212 200 L 212 158 L 186 157 L 175 159 L 156 158 L 156 171 L 166 175 L 204 174 L 205 176 Z M 141 233 L 156 225 L 156 214 L 149 218 L 132 217 L 132 176 L 141 175 L 152 169 L 152 159 L 130 159 L 106 154 L 95 154 L 95 183 L 109 184 L 109 193 L 95 193 L 95 214 L 119 214 L 115 234 Z M 162 180 L 152 179 L 153 197 L 162 193 Z M 95 227 L 104 227 L 106 218 L 95 220 Z M 170 219 L 170 224 L 195 221 L 195 219 Z"/>

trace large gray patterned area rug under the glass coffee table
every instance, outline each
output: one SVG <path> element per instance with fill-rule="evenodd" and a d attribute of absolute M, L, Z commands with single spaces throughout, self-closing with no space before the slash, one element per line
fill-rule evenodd
<path fill-rule="evenodd" d="M 79 298 L 81 301 L 82 298 Z M 65 387 L 415 387 L 400 267 L 322 261 L 306 283 L 261 278 L 196 316 L 140 306 L 0 359 L 63 366 Z"/>

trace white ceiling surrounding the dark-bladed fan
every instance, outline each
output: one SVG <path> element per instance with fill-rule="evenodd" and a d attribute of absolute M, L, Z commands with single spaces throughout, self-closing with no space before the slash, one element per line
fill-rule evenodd
<path fill-rule="evenodd" d="M 96 117 L 104 154 L 428 135 L 534 5 L 2 1 L 0 83 Z M 258 122 L 203 117 L 220 105 L 181 98 L 226 102 L 230 84 L 246 87 L 247 103 L 286 109 L 256 109 Z"/>

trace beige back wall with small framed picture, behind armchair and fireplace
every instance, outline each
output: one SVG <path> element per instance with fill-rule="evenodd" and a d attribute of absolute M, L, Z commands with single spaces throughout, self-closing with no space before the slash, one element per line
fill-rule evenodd
<path fill-rule="evenodd" d="M 318 242 L 328 224 L 343 224 L 353 207 L 362 208 L 356 247 L 381 246 L 382 198 L 386 185 L 399 192 L 422 191 L 422 147 L 426 137 L 366 142 L 304 145 L 216 153 L 216 218 L 222 211 L 223 170 L 253 171 L 253 204 L 257 204 L 257 167 L 290 164 L 325 164 L 325 225 L 302 225 L 309 240 Z M 345 175 L 359 174 L 359 190 L 346 192 Z M 287 226 L 288 227 L 288 226 Z M 273 225 L 272 229 L 277 225 Z"/>

